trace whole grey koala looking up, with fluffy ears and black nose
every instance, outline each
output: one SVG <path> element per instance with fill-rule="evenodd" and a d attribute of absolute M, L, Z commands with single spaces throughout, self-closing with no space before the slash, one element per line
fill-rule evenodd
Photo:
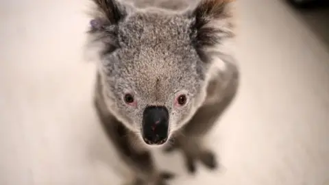
<path fill-rule="evenodd" d="M 204 138 L 238 92 L 233 2 L 92 1 L 95 110 L 131 183 L 167 184 L 174 176 L 156 167 L 152 147 L 181 151 L 190 173 L 197 161 L 216 169 Z"/>

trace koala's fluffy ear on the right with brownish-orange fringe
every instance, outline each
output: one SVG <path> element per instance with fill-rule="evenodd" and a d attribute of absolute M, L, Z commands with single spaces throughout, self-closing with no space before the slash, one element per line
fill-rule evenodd
<path fill-rule="evenodd" d="M 234 0 L 201 0 L 190 12 L 195 46 L 201 52 L 234 36 L 232 2 Z M 201 53 L 200 53 L 201 54 Z"/>

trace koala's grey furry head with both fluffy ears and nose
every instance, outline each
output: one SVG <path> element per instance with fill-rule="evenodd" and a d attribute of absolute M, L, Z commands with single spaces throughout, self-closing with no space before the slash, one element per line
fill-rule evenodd
<path fill-rule="evenodd" d="M 231 36 L 228 0 L 180 12 L 93 0 L 92 42 L 108 110 L 149 145 L 162 145 L 206 97 L 208 49 Z"/>

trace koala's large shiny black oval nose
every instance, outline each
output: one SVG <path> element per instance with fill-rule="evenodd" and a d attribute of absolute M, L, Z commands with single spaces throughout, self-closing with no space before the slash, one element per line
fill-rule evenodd
<path fill-rule="evenodd" d="M 148 145 L 162 145 L 167 141 L 169 113 L 162 106 L 149 106 L 143 112 L 143 139 Z"/>

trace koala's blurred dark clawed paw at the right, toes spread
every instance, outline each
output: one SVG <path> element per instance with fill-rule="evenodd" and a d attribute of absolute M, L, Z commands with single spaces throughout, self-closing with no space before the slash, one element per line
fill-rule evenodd
<path fill-rule="evenodd" d="M 191 156 L 188 152 L 184 151 L 184 157 L 186 169 L 191 174 L 195 174 L 197 171 L 197 161 L 202 162 L 210 170 L 215 170 L 218 167 L 216 156 L 212 151 L 200 151 L 197 156 Z"/>

